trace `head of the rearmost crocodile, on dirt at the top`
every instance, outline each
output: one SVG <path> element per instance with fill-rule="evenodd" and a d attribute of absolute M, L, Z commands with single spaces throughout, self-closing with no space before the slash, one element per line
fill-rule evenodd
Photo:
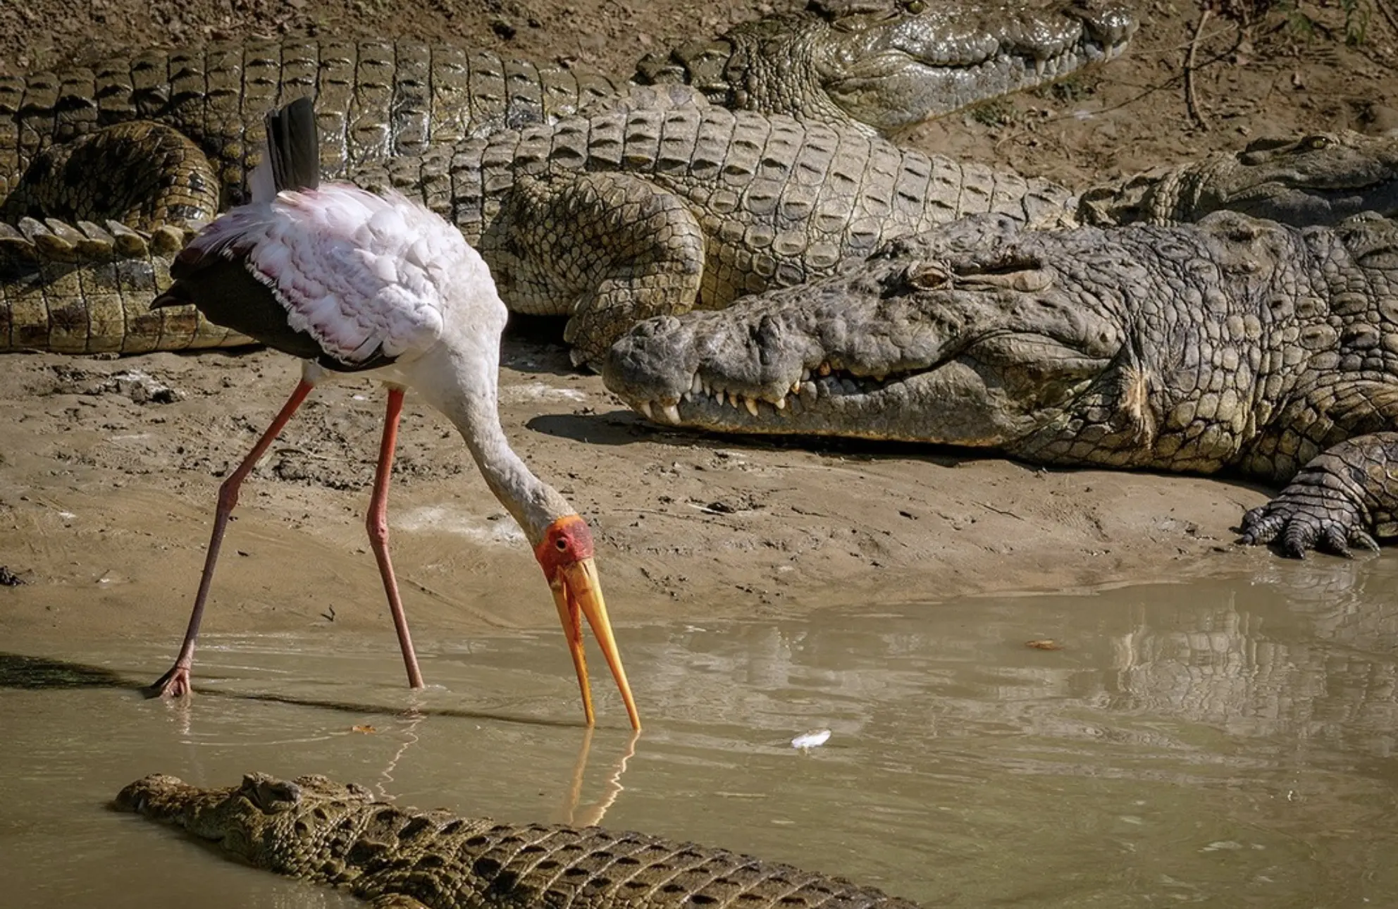
<path fill-rule="evenodd" d="M 1121 53 L 1137 29 L 1113 0 L 811 0 L 642 62 L 712 99 L 891 134 Z"/>

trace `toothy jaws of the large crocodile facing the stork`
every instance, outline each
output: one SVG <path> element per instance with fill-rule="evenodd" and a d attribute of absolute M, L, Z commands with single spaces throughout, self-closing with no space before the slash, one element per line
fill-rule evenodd
<path fill-rule="evenodd" d="M 661 424 L 1004 448 L 1060 420 L 1111 366 L 1110 351 L 1032 331 L 966 345 L 924 331 L 889 355 L 858 329 L 822 336 L 798 323 L 754 326 L 721 310 L 653 319 L 617 341 L 603 380 Z"/>

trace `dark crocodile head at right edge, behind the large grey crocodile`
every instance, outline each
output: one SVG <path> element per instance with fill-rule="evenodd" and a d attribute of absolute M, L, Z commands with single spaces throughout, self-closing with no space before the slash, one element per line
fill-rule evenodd
<path fill-rule="evenodd" d="M 1086 224 L 1194 221 L 1240 211 L 1293 227 L 1362 211 L 1398 215 L 1398 136 L 1320 133 L 1258 138 L 1236 154 L 1163 166 L 1083 193 Z"/>

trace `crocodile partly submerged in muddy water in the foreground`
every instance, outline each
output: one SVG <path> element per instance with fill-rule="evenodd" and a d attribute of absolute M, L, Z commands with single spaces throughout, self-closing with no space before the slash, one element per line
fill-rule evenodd
<path fill-rule="evenodd" d="M 249 773 L 200 789 L 151 775 L 115 807 L 182 826 L 231 857 L 387 909 L 682 906 L 916 909 L 844 878 L 597 826 L 496 824 L 376 801 L 324 776 Z"/>

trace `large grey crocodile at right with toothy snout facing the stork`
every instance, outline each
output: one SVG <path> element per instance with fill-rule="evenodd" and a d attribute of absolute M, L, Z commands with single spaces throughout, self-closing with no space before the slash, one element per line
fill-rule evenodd
<path fill-rule="evenodd" d="M 1398 224 L 1028 231 L 981 217 L 724 312 L 637 324 L 603 379 L 657 421 L 1230 473 L 1286 555 L 1398 536 Z"/>

